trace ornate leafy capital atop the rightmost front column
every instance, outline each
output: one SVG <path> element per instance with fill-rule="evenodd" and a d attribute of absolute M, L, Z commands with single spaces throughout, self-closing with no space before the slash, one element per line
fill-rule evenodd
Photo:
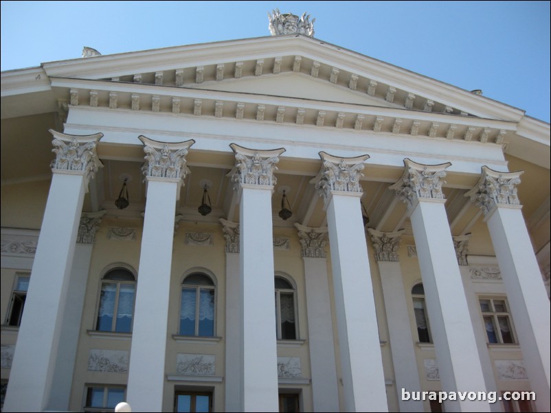
<path fill-rule="evenodd" d="M 485 217 L 499 205 L 520 208 L 517 185 L 520 183 L 521 174 L 524 174 L 524 171 L 497 172 L 483 166 L 480 180 L 471 191 L 465 193 L 465 196 L 470 197 L 471 201 L 482 209 Z"/>

